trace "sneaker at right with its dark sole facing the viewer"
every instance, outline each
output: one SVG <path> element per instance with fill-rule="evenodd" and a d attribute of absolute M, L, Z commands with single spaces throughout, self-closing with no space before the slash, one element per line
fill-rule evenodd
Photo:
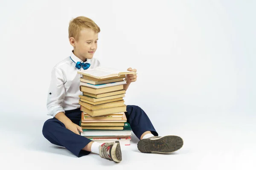
<path fill-rule="evenodd" d="M 143 153 L 171 153 L 183 146 L 183 140 L 179 136 L 152 136 L 141 139 L 137 147 Z"/>

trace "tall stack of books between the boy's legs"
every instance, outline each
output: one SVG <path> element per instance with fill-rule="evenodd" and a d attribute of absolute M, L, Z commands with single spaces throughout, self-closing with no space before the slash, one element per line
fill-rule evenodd
<path fill-rule="evenodd" d="M 126 84 L 126 74 L 136 73 L 102 67 L 78 73 L 82 75 L 80 91 L 83 92 L 83 95 L 79 95 L 81 136 L 102 143 L 118 140 L 122 145 L 129 145 L 131 127 L 124 113 L 123 85 Z"/>

